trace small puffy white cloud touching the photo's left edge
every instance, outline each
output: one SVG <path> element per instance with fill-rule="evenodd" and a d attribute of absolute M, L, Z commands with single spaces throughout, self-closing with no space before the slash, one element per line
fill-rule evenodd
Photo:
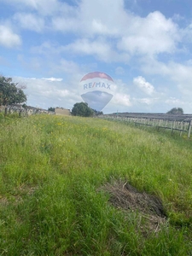
<path fill-rule="evenodd" d="M 22 44 L 20 36 L 15 34 L 9 26 L 0 25 L 0 44 L 4 47 L 14 48 Z"/>

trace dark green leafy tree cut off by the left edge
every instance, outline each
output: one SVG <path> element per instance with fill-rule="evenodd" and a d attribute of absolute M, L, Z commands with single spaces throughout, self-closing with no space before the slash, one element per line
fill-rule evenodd
<path fill-rule="evenodd" d="M 24 88 L 21 84 L 13 83 L 11 78 L 0 76 L 0 106 L 5 106 L 5 114 L 8 105 L 26 102 L 26 95 L 22 90 Z"/>

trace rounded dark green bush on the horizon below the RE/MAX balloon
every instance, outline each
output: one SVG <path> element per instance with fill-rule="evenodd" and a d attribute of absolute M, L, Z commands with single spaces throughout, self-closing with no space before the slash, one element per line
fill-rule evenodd
<path fill-rule="evenodd" d="M 89 108 L 88 104 L 85 102 L 75 103 L 72 109 L 72 114 L 75 116 L 90 117 L 93 115 L 93 113 L 94 111 Z"/>

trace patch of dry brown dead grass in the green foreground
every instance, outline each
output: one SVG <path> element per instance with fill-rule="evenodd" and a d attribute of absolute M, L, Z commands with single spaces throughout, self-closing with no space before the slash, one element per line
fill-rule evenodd
<path fill-rule="evenodd" d="M 162 224 L 166 224 L 166 212 L 160 198 L 139 192 L 127 182 L 107 183 L 102 190 L 110 195 L 113 207 L 126 212 L 136 212 L 138 216 L 137 228 L 143 235 L 157 233 Z"/>

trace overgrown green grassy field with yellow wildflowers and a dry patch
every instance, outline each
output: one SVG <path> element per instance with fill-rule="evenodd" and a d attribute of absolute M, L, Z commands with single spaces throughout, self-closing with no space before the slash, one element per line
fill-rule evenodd
<path fill-rule="evenodd" d="M 192 140 L 0 113 L 0 255 L 192 255 Z"/>

